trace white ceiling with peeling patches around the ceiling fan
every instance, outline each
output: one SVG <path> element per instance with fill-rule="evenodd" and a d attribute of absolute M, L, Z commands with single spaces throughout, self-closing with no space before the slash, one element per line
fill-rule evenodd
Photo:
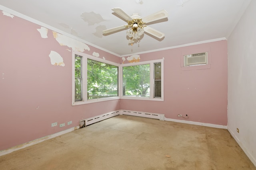
<path fill-rule="evenodd" d="M 139 1 L 0 0 L 0 10 L 9 8 L 64 31 L 66 35 L 83 39 L 88 45 L 93 44 L 116 55 L 125 56 L 228 37 L 251 0 Z M 183 6 L 180 5 L 182 2 Z M 105 29 L 127 24 L 113 13 L 112 8 L 121 8 L 130 16 L 138 13 L 142 18 L 166 10 L 168 19 L 149 25 L 165 33 L 164 38 L 157 39 L 145 33 L 139 44 L 131 46 L 128 45 L 126 30 L 102 35 Z"/>

